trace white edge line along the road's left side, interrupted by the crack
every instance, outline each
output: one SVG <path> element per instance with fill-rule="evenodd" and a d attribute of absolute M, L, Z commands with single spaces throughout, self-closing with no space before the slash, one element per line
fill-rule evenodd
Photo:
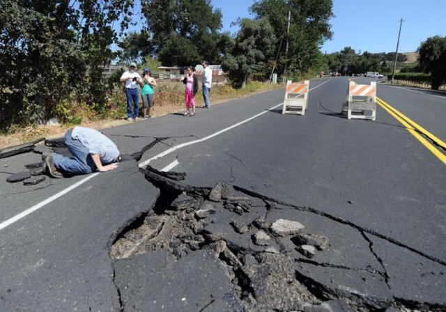
<path fill-rule="evenodd" d="M 324 81 L 322 84 L 318 84 L 314 88 L 309 89 L 309 91 L 312 91 L 315 88 L 318 88 L 318 87 L 322 86 L 323 84 L 327 83 L 328 81 L 330 81 L 330 79 L 328 79 L 327 81 Z M 153 156 L 151 159 L 147 159 L 145 162 L 141 162 L 141 164 L 139 164 L 139 167 L 146 166 L 152 160 L 164 157 L 165 155 L 168 155 L 168 154 L 174 152 L 175 150 L 179 150 L 180 148 L 183 148 L 185 146 L 190 146 L 192 144 L 200 143 L 200 142 L 206 141 L 208 139 L 211 139 L 213 137 L 216 137 L 219 134 L 222 134 L 222 133 L 224 133 L 226 131 L 229 131 L 229 130 L 235 128 L 235 127 L 238 127 L 239 125 L 243 125 L 244 123 L 247 123 L 250 120 L 253 120 L 253 119 L 255 119 L 255 118 L 259 117 L 259 116 L 262 116 L 263 114 L 268 113 L 268 111 L 272 111 L 272 109 L 275 109 L 276 107 L 279 107 L 282 104 L 284 104 L 284 103 L 277 104 L 277 105 L 271 107 L 270 109 L 268 109 L 266 111 L 262 111 L 259 114 L 256 114 L 256 115 L 254 115 L 254 116 L 252 116 L 250 118 L 247 118 L 247 119 L 245 119 L 243 121 L 240 121 L 240 123 L 236 123 L 234 125 L 231 125 L 230 127 L 226 127 L 226 128 L 224 128 L 224 129 L 222 129 L 220 131 L 217 131 L 217 132 L 215 132 L 213 134 L 210 134 L 207 137 L 203 137 L 203 139 L 198 139 L 198 140 L 194 140 L 194 141 L 178 144 L 177 146 L 174 146 L 172 148 L 164 150 L 164 152 L 162 152 L 162 153 L 160 153 L 160 154 L 158 154 L 156 156 Z M 55 194 L 55 195 L 45 199 L 45 201 L 41 201 L 37 205 L 33 205 L 33 207 L 28 208 L 28 209 L 24 210 L 23 212 L 20 212 L 20 214 L 17 214 L 14 217 L 12 217 L 12 218 L 10 218 L 10 219 L 8 219 L 6 221 L 1 222 L 1 224 L 0 224 L 0 231 L 3 230 L 3 228 L 6 228 L 7 226 L 10 226 L 11 224 L 13 224 L 13 223 L 19 221 L 20 219 L 26 217 L 28 214 L 30 214 L 30 213 L 32 213 L 32 212 L 42 208 L 43 206 L 51 203 L 52 201 L 55 201 L 57 198 L 67 194 L 68 192 L 72 191 L 72 189 L 75 189 L 76 187 L 79 187 L 79 185 L 84 184 L 86 181 L 94 178 L 95 176 L 98 176 L 98 174 L 99 173 L 93 173 L 90 176 L 87 176 L 86 178 L 76 182 L 74 185 L 71 185 L 70 187 L 67 187 L 66 189 L 63 189 L 61 192 L 59 192 L 59 193 L 57 193 L 57 194 Z"/>

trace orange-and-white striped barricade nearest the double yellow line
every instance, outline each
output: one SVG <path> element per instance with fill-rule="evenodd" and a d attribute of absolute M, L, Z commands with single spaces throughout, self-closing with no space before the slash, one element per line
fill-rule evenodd
<path fill-rule="evenodd" d="M 356 84 L 350 81 L 342 112 L 348 119 L 376 119 L 376 81 Z"/>

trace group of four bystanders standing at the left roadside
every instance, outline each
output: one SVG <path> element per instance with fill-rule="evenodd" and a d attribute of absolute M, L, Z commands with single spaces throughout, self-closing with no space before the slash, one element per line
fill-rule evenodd
<path fill-rule="evenodd" d="M 212 86 L 212 70 L 209 67 L 209 63 L 204 61 L 203 74 L 202 74 L 202 91 L 204 108 L 210 107 L 210 88 Z M 141 93 L 141 99 L 143 104 L 143 119 L 149 119 L 153 115 L 153 102 L 155 98 L 155 86 L 157 86 L 156 80 L 152 77 L 151 69 L 144 68 L 144 72 L 139 75 L 137 72 L 137 64 L 130 63 L 128 70 L 126 70 L 121 79 L 121 83 L 124 84 L 125 97 L 127 98 L 127 120 L 133 121 L 139 119 L 139 94 Z M 185 77 L 183 79 L 185 84 L 185 116 L 195 116 L 197 111 L 195 110 L 195 95 L 197 95 L 199 83 L 195 69 L 190 67 L 186 68 Z M 139 91 L 141 88 L 141 91 Z"/>

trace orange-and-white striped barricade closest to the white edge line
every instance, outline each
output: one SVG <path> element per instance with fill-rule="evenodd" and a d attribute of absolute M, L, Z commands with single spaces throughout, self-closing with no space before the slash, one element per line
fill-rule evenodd
<path fill-rule="evenodd" d="M 282 114 L 305 115 L 305 111 L 308 107 L 308 91 L 308 80 L 305 80 L 303 84 L 287 81 Z"/>

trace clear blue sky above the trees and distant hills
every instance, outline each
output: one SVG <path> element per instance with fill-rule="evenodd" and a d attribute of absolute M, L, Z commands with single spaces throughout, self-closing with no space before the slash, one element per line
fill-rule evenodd
<path fill-rule="evenodd" d="M 237 31 L 231 22 L 251 17 L 252 0 L 212 0 L 220 8 L 224 31 Z M 336 52 L 351 46 L 356 52 L 394 52 L 399 19 L 403 18 L 399 52 L 415 52 L 431 36 L 446 36 L 446 0 L 334 0 L 332 40 L 322 52 Z"/>

